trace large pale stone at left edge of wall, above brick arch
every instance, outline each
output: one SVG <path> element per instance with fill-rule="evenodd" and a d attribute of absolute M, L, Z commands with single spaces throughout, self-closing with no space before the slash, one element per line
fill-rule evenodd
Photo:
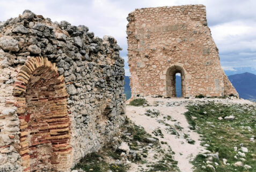
<path fill-rule="evenodd" d="M 0 37 L 0 47 L 3 50 L 19 51 L 18 41 L 9 36 Z"/>

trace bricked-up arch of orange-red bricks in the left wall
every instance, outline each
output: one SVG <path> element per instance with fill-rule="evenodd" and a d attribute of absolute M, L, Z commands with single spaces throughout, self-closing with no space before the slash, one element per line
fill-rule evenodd
<path fill-rule="evenodd" d="M 70 119 L 64 77 L 47 58 L 26 61 L 13 85 L 24 171 L 70 168 Z"/>

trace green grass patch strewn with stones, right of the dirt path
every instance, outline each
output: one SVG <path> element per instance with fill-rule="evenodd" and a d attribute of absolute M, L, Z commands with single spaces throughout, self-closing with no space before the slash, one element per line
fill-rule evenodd
<path fill-rule="evenodd" d="M 202 145 L 208 144 L 207 150 L 218 153 L 218 159 L 211 160 L 216 171 L 256 171 L 256 146 L 250 138 L 256 136 L 256 108 L 252 105 L 223 105 L 207 103 L 202 105 L 187 106 L 185 116 L 188 123 L 202 136 Z M 225 116 L 233 115 L 235 120 L 224 120 Z M 222 117 L 223 120 L 218 120 Z M 240 144 L 248 148 L 246 157 L 240 157 L 238 151 Z M 238 151 L 234 150 L 237 147 Z M 235 155 L 237 159 L 234 158 Z M 242 161 L 240 158 L 244 158 Z M 224 165 L 223 159 L 230 165 Z M 206 167 L 209 160 L 203 154 L 199 154 L 193 161 L 195 171 L 213 171 Z M 242 161 L 251 169 L 235 167 L 233 163 Z M 214 165 L 217 162 L 219 166 Z M 205 168 L 202 168 L 204 166 Z"/>

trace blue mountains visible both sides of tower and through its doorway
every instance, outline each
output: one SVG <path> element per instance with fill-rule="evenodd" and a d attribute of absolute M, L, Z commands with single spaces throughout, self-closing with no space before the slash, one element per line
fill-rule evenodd
<path fill-rule="evenodd" d="M 240 98 L 256 101 L 256 75 L 252 73 L 235 74 L 228 76 L 230 82 L 236 88 Z M 125 76 L 125 94 L 126 99 L 131 97 L 130 79 Z M 181 79 L 176 76 L 177 97 L 181 97 Z"/>

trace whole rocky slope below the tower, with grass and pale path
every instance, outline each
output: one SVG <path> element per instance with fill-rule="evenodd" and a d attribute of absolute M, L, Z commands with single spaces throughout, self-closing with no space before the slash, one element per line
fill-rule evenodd
<path fill-rule="evenodd" d="M 135 105 L 135 106 L 131 106 Z M 235 98 L 142 98 L 119 136 L 75 169 L 254 171 L 256 104 Z"/>

